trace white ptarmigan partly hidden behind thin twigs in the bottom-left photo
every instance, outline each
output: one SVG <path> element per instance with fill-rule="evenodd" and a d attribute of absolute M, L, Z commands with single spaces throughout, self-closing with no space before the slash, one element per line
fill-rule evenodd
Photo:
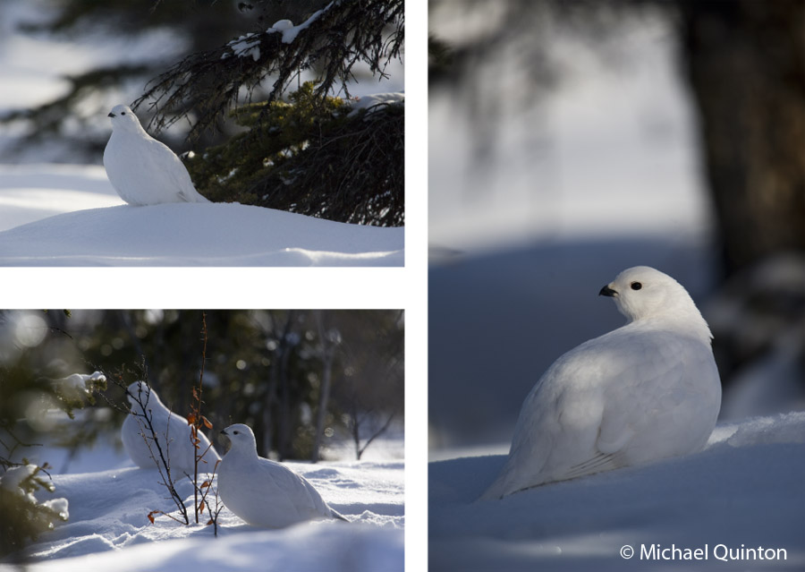
<path fill-rule="evenodd" d="M 154 441 L 144 415 L 148 415 L 157 432 L 157 440 L 165 459 L 171 465 L 171 476 L 179 480 L 184 476 L 193 476 L 196 448 L 191 441 L 191 427 L 182 415 L 174 414 L 159 400 L 157 392 L 143 381 L 135 381 L 126 389 L 126 398 L 131 404 L 131 413 L 126 415 L 120 431 L 123 448 L 138 465 L 144 469 L 157 468 L 155 458 L 159 459 L 157 444 Z M 142 402 L 142 406 L 138 403 Z M 212 473 L 218 456 L 216 449 L 210 446 L 207 436 L 201 431 L 199 435 L 199 474 Z M 146 442 L 148 440 L 148 443 Z M 148 446 L 150 445 L 150 449 Z M 205 452 L 206 451 L 206 452 Z"/>

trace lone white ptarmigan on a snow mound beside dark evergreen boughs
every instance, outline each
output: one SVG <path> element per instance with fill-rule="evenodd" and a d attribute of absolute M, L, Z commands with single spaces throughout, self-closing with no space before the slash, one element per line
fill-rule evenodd
<path fill-rule="evenodd" d="M 131 205 L 209 202 L 193 186 L 190 174 L 171 149 L 145 131 L 129 107 L 114 106 L 112 136 L 104 150 L 106 176 Z"/>

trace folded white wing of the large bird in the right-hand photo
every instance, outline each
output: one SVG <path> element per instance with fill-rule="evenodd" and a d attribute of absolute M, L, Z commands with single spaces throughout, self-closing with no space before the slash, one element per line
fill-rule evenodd
<path fill-rule="evenodd" d="M 684 371 L 679 348 L 659 353 L 672 339 L 622 330 L 572 349 L 546 371 L 485 498 L 628 465 L 633 441 L 667 405 L 662 388 L 678 387 Z"/>

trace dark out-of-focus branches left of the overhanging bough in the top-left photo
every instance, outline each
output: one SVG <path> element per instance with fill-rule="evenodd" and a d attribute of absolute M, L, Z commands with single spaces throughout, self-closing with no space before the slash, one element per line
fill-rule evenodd
<path fill-rule="evenodd" d="M 217 0 L 155 2 L 155 0 L 58 0 L 40 6 L 41 21 L 27 22 L 21 29 L 34 36 L 54 35 L 86 41 L 102 49 L 105 37 L 136 39 L 148 33 L 166 31 L 171 41 L 160 41 L 159 51 L 143 53 L 139 59 L 103 64 L 66 76 L 68 89 L 46 103 L 4 115 L 4 122 L 28 125 L 20 146 L 41 144 L 53 138 L 69 144 L 74 154 L 99 158 L 108 139 L 108 125 L 97 129 L 106 117 L 109 101 L 121 90 L 139 90 L 148 79 L 161 73 L 177 59 L 211 49 L 233 38 L 250 18 L 237 3 Z M 309 4 L 302 2 L 301 4 Z M 286 9 L 292 9 L 288 6 Z M 165 50 L 174 50 L 165 52 Z M 135 87 L 138 86 L 138 87 Z M 124 102 L 128 103 L 128 102 Z M 208 143 L 220 142 L 208 138 Z M 174 145 L 178 141 L 168 141 Z"/>

